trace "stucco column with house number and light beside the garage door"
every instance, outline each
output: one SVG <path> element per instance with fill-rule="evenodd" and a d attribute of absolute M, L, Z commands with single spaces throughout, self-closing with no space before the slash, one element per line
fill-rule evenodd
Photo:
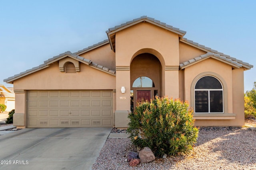
<path fill-rule="evenodd" d="M 121 92 L 121 88 L 125 92 Z M 130 112 L 130 66 L 116 67 L 115 127 L 128 127 Z"/>

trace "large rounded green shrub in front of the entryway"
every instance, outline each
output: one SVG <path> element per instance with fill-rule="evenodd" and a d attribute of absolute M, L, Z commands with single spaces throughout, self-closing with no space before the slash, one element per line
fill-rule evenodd
<path fill-rule="evenodd" d="M 158 157 L 186 154 L 198 137 L 192 113 L 187 102 L 156 96 L 150 102 L 139 102 L 128 115 L 127 132 L 135 146 L 149 147 Z"/>

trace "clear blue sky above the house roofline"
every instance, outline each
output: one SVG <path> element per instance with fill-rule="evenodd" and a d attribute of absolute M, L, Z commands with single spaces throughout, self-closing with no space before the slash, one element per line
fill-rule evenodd
<path fill-rule="evenodd" d="M 0 0 L 0 84 L 65 51 L 107 39 L 106 30 L 148 16 L 187 31 L 187 39 L 254 65 L 255 0 Z"/>

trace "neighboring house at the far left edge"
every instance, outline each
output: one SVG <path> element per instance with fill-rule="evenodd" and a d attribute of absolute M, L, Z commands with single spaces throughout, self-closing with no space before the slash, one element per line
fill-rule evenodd
<path fill-rule="evenodd" d="M 0 104 L 6 105 L 5 111 L 15 109 L 15 94 L 12 89 L 0 84 Z"/>

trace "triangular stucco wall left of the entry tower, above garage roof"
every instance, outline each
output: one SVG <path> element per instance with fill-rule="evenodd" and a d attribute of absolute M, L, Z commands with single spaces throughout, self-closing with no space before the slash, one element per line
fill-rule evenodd
<path fill-rule="evenodd" d="M 80 56 L 104 67 L 110 68 L 111 70 L 116 70 L 115 53 L 111 50 L 109 43 L 81 54 Z"/>

